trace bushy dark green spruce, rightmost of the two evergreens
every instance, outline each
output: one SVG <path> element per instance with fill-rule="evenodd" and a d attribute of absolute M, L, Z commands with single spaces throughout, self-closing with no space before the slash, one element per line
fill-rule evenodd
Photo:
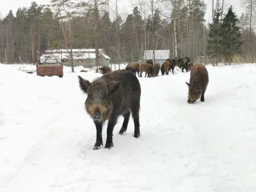
<path fill-rule="evenodd" d="M 234 54 L 241 53 L 242 44 L 238 19 L 233 7 L 230 6 L 221 24 L 221 47 L 225 60 L 232 61 L 231 57 Z"/>

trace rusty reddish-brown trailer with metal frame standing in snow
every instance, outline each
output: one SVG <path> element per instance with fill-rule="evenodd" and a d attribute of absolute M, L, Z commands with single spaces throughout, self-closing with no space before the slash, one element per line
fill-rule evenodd
<path fill-rule="evenodd" d="M 42 56 L 37 56 L 37 54 Z M 63 59 L 60 52 L 36 52 L 36 75 L 63 77 Z"/>

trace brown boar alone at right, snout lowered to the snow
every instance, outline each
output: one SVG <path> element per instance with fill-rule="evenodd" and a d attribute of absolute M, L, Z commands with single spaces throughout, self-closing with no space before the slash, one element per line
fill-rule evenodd
<path fill-rule="evenodd" d="M 188 103 L 194 103 L 200 97 L 200 100 L 204 102 L 204 93 L 209 83 L 209 76 L 207 69 L 204 65 L 200 63 L 196 63 L 193 65 L 190 71 L 190 79 L 188 84 L 189 92 L 188 92 Z"/>

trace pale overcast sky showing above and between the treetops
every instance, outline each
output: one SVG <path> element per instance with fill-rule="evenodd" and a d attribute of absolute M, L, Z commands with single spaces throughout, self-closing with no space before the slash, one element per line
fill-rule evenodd
<path fill-rule="evenodd" d="M 4 0 L 3 0 L 4 1 Z M 3 18 L 5 17 L 6 14 L 8 14 L 9 10 L 13 10 L 13 13 L 16 13 L 17 9 L 20 7 L 29 7 L 31 2 L 33 0 L 7 0 L 4 1 L 4 3 L 1 3 L 0 6 L 0 17 Z M 50 0 L 36 0 L 36 3 L 38 4 L 47 4 L 49 3 Z M 88 0 L 85 0 L 88 1 Z M 92 1 L 92 0 L 89 0 Z M 111 1 L 111 8 L 110 8 L 110 12 L 115 12 L 115 0 L 109 0 Z M 134 8 L 134 6 L 138 5 L 139 1 L 143 1 L 143 0 L 118 0 L 118 13 L 121 15 L 121 17 L 123 19 L 125 19 L 127 17 L 127 15 L 129 13 L 132 12 L 132 8 Z M 148 1 L 149 0 L 144 0 L 144 1 Z M 212 0 L 204 0 L 205 3 L 207 4 L 207 11 L 205 14 L 205 20 L 207 20 L 208 22 L 211 21 L 211 9 L 212 9 Z M 237 15 L 241 15 L 241 12 L 243 12 L 243 9 L 241 8 L 241 0 L 225 0 L 225 10 L 227 10 L 227 7 L 232 4 L 232 6 L 234 6 L 234 10 L 237 13 Z M 166 9 L 166 8 L 165 8 Z M 161 8 L 160 8 L 161 10 Z"/>

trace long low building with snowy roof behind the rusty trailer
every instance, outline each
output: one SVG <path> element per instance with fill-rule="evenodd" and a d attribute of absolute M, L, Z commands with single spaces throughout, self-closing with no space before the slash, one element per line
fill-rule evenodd
<path fill-rule="evenodd" d="M 63 65 L 71 66 L 70 49 L 49 49 L 45 52 L 60 52 L 61 58 L 63 59 Z M 92 68 L 96 66 L 96 54 L 95 49 L 72 49 L 73 52 L 73 63 L 74 67 L 83 66 L 85 68 Z M 100 55 L 100 66 L 109 66 L 110 58 L 106 55 L 104 49 L 99 49 Z"/>

